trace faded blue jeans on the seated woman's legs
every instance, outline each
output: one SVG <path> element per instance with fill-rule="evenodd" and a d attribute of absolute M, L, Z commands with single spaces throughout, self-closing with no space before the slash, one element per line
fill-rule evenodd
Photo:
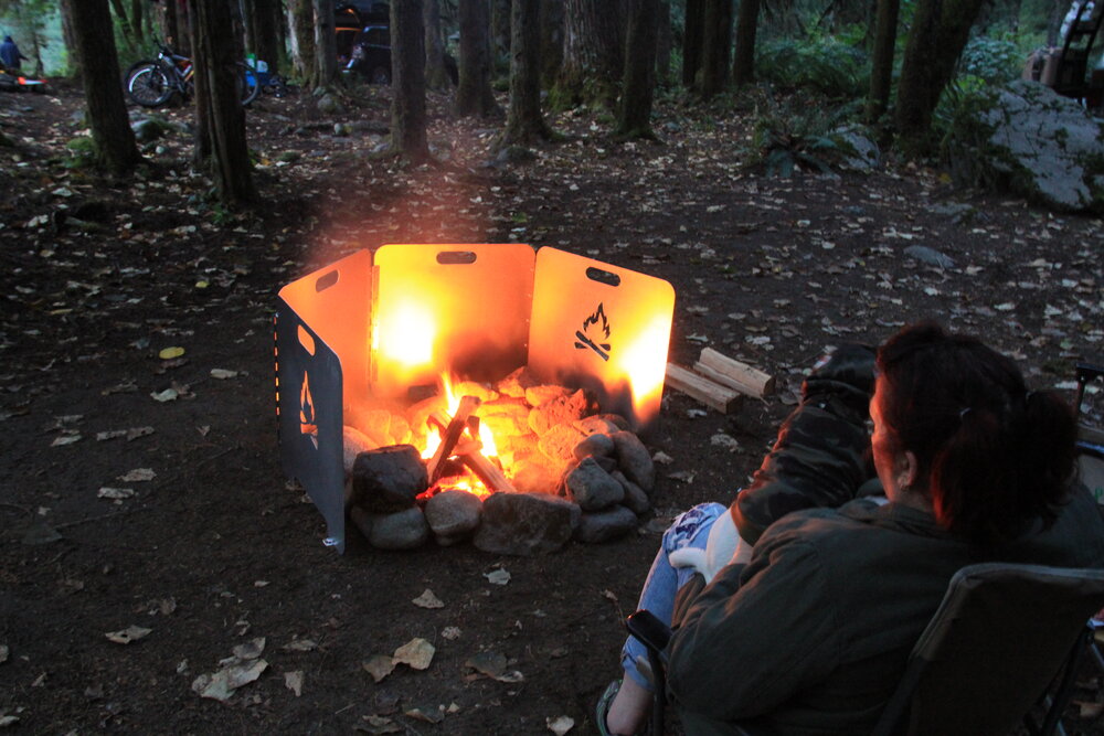
<path fill-rule="evenodd" d="M 676 550 L 683 547 L 705 548 L 709 541 L 709 530 L 718 516 L 725 513 L 728 509 L 720 503 L 699 503 L 698 505 L 683 511 L 675 522 L 664 532 L 659 552 L 648 570 L 648 578 L 644 582 L 644 589 L 640 591 L 640 602 L 637 610 L 646 608 L 655 614 L 661 621 L 671 622 L 671 615 L 675 611 L 675 594 L 683 585 L 690 582 L 694 575 L 692 567 L 672 567 L 667 556 Z M 648 650 L 645 649 L 635 637 L 625 640 L 622 648 L 622 666 L 625 675 L 631 678 L 645 690 L 652 690 L 651 683 L 637 669 L 637 658 L 648 661 Z"/>

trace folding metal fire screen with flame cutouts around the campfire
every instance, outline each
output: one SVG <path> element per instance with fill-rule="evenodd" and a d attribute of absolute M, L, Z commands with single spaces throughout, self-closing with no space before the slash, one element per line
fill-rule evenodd
<path fill-rule="evenodd" d="M 667 281 L 550 247 L 359 250 L 279 291 L 284 470 L 343 552 L 342 428 L 359 414 L 408 405 L 444 374 L 492 382 L 528 366 L 639 428 L 659 412 L 673 312 Z"/>

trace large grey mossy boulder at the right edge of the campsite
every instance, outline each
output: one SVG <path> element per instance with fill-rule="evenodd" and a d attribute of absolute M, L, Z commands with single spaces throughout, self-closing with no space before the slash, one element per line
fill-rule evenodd
<path fill-rule="evenodd" d="M 970 183 L 1059 212 L 1104 212 L 1104 125 L 1038 82 L 1017 79 L 972 98 L 948 146 Z"/>

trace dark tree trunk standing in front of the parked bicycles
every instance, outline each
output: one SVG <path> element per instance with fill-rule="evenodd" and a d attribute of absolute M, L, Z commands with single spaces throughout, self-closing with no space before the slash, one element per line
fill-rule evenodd
<path fill-rule="evenodd" d="M 215 191 L 222 204 L 238 206 L 256 199 L 245 140 L 245 109 L 237 89 L 241 42 L 235 38 L 233 14 L 225 0 L 191 0 L 191 6 L 195 21 L 195 94 L 197 100 L 202 94 L 205 103 L 202 110 L 206 125 L 201 129 L 209 136 Z"/>

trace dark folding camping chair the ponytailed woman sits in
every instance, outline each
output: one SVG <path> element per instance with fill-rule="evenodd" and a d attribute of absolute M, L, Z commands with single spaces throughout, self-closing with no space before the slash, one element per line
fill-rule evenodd
<path fill-rule="evenodd" d="M 958 570 L 909 658 L 874 736 L 999 735 L 1022 721 L 1048 736 L 1089 651 L 1089 618 L 1104 605 L 1104 570 L 984 563 Z M 658 625 L 658 626 L 657 626 Z M 656 684 L 652 734 L 664 733 L 670 630 L 648 611 L 628 618 L 648 647 Z M 1041 705 L 1037 725 L 1030 711 Z"/>

